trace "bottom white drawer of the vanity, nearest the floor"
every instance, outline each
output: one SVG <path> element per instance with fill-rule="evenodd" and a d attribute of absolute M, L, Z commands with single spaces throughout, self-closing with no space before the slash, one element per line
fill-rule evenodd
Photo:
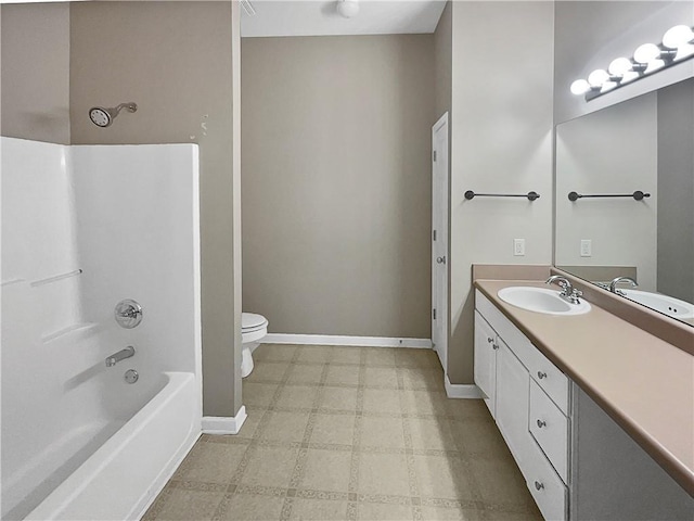
<path fill-rule="evenodd" d="M 534 444 L 534 457 L 524 472 L 526 485 L 538 505 L 542 517 L 548 521 L 567 519 L 566 485 L 554 471 L 542 450 Z"/>

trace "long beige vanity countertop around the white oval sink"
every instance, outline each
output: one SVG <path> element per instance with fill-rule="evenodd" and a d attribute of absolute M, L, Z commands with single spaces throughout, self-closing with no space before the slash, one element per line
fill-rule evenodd
<path fill-rule="evenodd" d="M 475 287 L 694 496 L 694 356 L 599 306 L 562 317 L 504 303 L 497 292 L 542 282 Z M 590 301 L 589 301 L 590 302 Z"/>

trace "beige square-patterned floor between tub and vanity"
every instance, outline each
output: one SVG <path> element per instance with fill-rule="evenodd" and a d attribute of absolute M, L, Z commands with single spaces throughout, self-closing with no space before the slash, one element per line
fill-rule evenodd
<path fill-rule="evenodd" d="M 428 350 L 265 344 L 235 436 L 203 435 L 144 520 L 539 520 L 484 403 Z"/>

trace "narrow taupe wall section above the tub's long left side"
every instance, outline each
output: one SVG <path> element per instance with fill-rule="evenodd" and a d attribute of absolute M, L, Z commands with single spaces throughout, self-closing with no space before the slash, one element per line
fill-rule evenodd
<path fill-rule="evenodd" d="M 3 4 L 2 136 L 69 143 L 69 4 Z"/>

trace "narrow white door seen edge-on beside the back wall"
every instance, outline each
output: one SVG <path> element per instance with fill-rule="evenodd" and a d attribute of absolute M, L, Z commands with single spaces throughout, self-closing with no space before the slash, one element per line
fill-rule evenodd
<path fill-rule="evenodd" d="M 432 343 L 448 372 L 448 113 L 432 127 Z"/>

